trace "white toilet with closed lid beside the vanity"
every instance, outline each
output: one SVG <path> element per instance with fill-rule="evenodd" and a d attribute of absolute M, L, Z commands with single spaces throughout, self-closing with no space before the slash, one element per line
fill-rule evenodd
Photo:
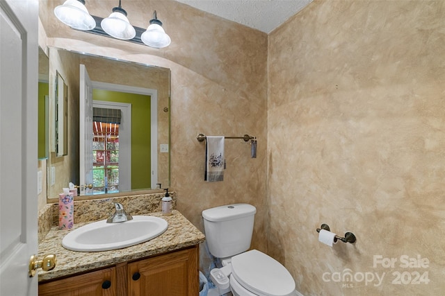
<path fill-rule="evenodd" d="M 210 275 L 218 288 L 210 295 L 232 291 L 234 296 L 294 296 L 295 281 L 284 266 L 272 257 L 250 250 L 254 215 L 251 204 L 228 204 L 202 211 L 209 252 L 220 258 L 223 267 Z"/>

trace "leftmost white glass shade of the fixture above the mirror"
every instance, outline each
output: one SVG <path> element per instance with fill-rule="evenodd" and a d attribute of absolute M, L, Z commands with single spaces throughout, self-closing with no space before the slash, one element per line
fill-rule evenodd
<path fill-rule="evenodd" d="M 54 8 L 54 15 L 63 24 L 77 30 L 88 31 L 96 27 L 96 21 L 78 0 L 67 0 L 63 5 Z"/>

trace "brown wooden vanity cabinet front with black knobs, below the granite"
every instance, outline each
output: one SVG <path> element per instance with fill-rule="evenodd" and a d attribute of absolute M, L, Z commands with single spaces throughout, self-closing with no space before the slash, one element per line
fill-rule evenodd
<path fill-rule="evenodd" d="M 39 284 L 39 296 L 197 296 L 199 247 Z M 127 292 L 127 293 L 126 293 Z"/>

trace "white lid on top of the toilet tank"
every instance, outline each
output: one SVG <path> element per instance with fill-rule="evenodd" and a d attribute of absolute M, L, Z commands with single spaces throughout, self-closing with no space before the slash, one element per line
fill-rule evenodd
<path fill-rule="evenodd" d="M 257 208 L 252 204 L 226 204 L 202 211 L 202 217 L 208 221 L 219 222 L 252 216 Z"/>

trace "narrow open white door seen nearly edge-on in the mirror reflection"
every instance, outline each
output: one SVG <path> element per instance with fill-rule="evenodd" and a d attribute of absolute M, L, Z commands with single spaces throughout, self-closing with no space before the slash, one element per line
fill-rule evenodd
<path fill-rule="evenodd" d="M 79 162 L 81 195 L 92 194 L 92 82 L 81 64 L 79 90 Z"/>

